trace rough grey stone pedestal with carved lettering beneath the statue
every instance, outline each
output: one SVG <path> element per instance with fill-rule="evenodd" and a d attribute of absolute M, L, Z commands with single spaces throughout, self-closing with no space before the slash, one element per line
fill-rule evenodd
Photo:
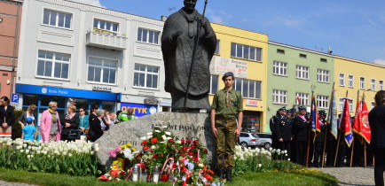
<path fill-rule="evenodd" d="M 116 124 L 95 142 L 99 144 L 98 161 L 103 171 L 108 170 L 113 160 L 108 151 L 125 143 L 131 143 L 141 150 L 140 137 L 152 132 L 155 125 L 168 126 L 169 132 L 175 136 L 174 140 L 189 138 L 193 141 L 199 138 L 208 149 L 208 162 L 215 164 L 212 159 L 216 155 L 216 138 L 211 131 L 208 113 L 157 112 Z"/>

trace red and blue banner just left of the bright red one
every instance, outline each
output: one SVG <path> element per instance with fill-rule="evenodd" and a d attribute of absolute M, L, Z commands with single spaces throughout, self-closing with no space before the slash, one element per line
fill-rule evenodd
<path fill-rule="evenodd" d="M 342 132 L 345 136 L 345 142 L 350 147 L 350 144 L 353 142 L 353 130 L 351 128 L 350 123 L 350 109 L 349 109 L 349 100 L 348 97 L 343 97 L 343 109 L 342 115 L 340 119 L 340 127 L 342 128 Z"/>

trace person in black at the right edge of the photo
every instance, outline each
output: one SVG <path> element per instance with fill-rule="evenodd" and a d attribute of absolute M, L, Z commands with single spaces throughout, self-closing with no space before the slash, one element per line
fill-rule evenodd
<path fill-rule="evenodd" d="M 375 107 L 369 112 L 369 125 L 372 131 L 370 146 L 374 154 L 374 181 L 376 186 L 384 186 L 385 171 L 385 91 L 374 96 Z"/>

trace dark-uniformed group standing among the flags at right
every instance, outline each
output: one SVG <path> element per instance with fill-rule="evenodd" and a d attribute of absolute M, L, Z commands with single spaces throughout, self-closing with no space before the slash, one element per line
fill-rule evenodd
<path fill-rule="evenodd" d="M 353 151 L 352 166 L 363 167 L 365 140 L 361 136 L 356 136 L 356 143 L 352 149 L 352 146 L 348 147 L 345 143 L 344 137 L 341 137 L 339 145 L 337 145 L 337 134 L 331 133 L 330 123 L 326 120 L 326 112 L 318 111 L 318 116 L 320 133 L 316 135 L 316 133 L 310 132 L 311 120 L 309 112 L 306 112 L 306 107 L 300 106 L 298 112 L 295 108 L 290 110 L 285 107 L 280 108 L 270 120 L 272 148 L 286 150 L 293 162 L 303 166 L 307 164 L 309 167 L 350 166 L 350 156 Z M 351 121 L 354 119 L 352 118 Z M 371 166 L 373 155 L 369 145 L 367 147 L 366 162 Z M 335 156 L 336 153 L 337 156 Z"/>

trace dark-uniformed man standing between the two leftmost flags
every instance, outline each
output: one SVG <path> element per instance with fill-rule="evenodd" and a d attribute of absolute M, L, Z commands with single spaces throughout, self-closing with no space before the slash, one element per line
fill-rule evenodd
<path fill-rule="evenodd" d="M 316 137 L 316 142 L 314 144 L 314 159 L 313 165 L 314 167 L 319 167 L 322 163 L 322 152 L 324 151 L 324 142 L 325 142 L 325 134 L 326 134 L 326 112 L 318 111 L 319 115 L 319 127 L 321 128 L 321 133 Z"/>

